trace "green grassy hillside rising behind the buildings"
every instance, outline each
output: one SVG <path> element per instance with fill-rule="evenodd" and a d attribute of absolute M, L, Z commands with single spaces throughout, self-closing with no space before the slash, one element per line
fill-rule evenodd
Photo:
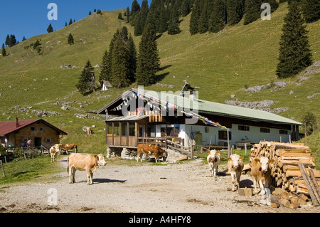
<path fill-rule="evenodd" d="M 83 152 L 105 152 L 104 122 L 80 119 L 75 114 L 99 110 L 126 89 L 112 89 L 83 97 L 75 84 L 87 60 L 92 65 L 101 63 L 102 55 L 109 48 L 117 28 L 127 26 L 129 32 L 134 33 L 131 26 L 117 19 L 119 11 L 92 14 L 59 31 L 35 36 L 13 48 L 7 48 L 9 56 L 0 56 L 0 120 L 7 120 L 8 117 L 14 119 L 16 116 L 21 120 L 37 118 L 32 110 L 56 111 L 60 116 L 43 118 L 68 132 L 63 142 L 78 143 Z M 320 95 L 307 98 L 319 93 L 319 67 L 312 68 L 313 73 L 306 75 L 307 80 L 300 81 L 302 75 L 282 80 L 287 86 L 281 90 L 274 90 L 272 86 L 261 93 L 247 93 L 244 90 L 279 81 L 275 70 L 286 13 L 287 4 L 280 4 L 272 14 L 271 21 L 258 20 L 247 26 L 240 22 L 220 33 L 195 36 L 188 31 L 191 15 L 186 16 L 181 21 L 181 33 L 175 36 L 164 33 L 157 40 L 163 70 L 158 73 L 159 83 L 146 89 L 176 92 L 184 85 L 183 80 L 187 80 L 191 85 L 200 87 L 201 99 L 214 102 L 274 100 L 271 108 L 290 108 L 280 114 L 284 117 L 301 121 L 304 112 L 311 111 L 319 119 Z M 320 21 L 308 24 L 307 28 L 314 61 L 319 61 Z M 73 46 L 67 43 L 69 33 L 75 38 Z M 41 39 L 41 55 L 32 48 L 26 48 L 36 39 Z M 140 37 L 134 37 L 137 48 L 139 40 Z M 75 68 L 60 68 L 65 64 L 74 65 Z M 100 69 L 96 68 L 95 73 L 98 78 Z M 169 88 L 169 85 L 174 88 Z M 235 97 L 232 99 L 230 95 Z M 70 106 L 69 110 L 61 110 L 61 105 L 57 105 L 62 101 Z M 10 110 L 16 105 L 32 108 L 28 112 Z M 93 129 L 95 133 L 92 137 L 85 137 L 81 128 L 89 125 L 96 126 Z"/>

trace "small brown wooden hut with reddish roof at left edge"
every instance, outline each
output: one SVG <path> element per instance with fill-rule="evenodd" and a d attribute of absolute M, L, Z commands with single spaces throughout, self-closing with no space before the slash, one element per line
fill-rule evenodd
<path fill-rule="evenodd" d="M 45 120 L 18 120 L 0 122 L 0 142 L 4 147 L 30 147 L 50 148 L 53 144 L 60 143 L 60 137 L 67 134 L 46 122 Z"/>

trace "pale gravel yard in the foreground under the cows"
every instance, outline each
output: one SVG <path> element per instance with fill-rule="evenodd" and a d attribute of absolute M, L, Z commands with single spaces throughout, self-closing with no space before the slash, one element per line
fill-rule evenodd
<path fill-rule="evenodd" d="M 66 157 L 60 160 L 66 169 Z M 220 166 L 218 171 L 224 171 Z M 107 165 L 97 169 L 95 184 L 88 186 L 85 171 L 77 171 L 75 184 L 68 184 L 67 171 L 58 181 L 0 187 L 3 212 L 55 213 L 211 213 L 211 212 L 320 212 L 313 206 L 270 208 L 261 206 L 260 196 L 244 197 L 228 191 L 230 176 L 210 177 L 201 160 L 155 166 Z M 252 184 L 242 176 L 240 187 Z M 51 190 L 51 191 L 50 191 Z M 48 194 L 49 192 L 49 194 Z M 56 192 L 57 205 L 48 206 L 48 197 Z M 53 200 L 50 200 L 53 201 Z"/>

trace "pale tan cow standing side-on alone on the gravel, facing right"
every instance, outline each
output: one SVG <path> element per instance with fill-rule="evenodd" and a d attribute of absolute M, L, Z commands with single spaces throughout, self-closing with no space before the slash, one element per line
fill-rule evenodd
<path fill-rule="evenodd" d="M 75 183 L 75 171 L 86 171 L 87 172 L 87 184 L 93 184 L 92 178 L 93 173 L 97 170 L 98 166 L 105 166 L 105 158 L 102 154 L 90 155 L 90 154 L 70 154 L 68 157 L 68 174 L 69 183 Z"/>

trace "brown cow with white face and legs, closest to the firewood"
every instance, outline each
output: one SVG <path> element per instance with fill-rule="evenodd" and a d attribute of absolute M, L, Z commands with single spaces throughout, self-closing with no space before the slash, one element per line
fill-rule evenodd
<path fill-rule="evenodd" d="M 274 159 L 269 160 L 267 157 L 257 157 L 251 159 L 251 175 L 255 186 L 255 194 L 259 192 L 257 184 L 259 184 L 262 195 L 262 204 L 270 205 L 270 189 L 271 184 L 271 168 L 270 164 L 274 163 Z"/>

